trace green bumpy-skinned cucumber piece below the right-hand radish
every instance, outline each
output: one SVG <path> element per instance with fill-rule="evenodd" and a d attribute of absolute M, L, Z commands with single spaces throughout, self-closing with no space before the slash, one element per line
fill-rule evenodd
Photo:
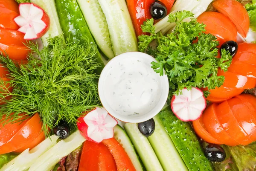
<path fill-rule="evenodd" d="M 160 111 L 158 117 L 189 171 L 214 171 L 189 122 L 178 119 L 170 107 Z"/>

